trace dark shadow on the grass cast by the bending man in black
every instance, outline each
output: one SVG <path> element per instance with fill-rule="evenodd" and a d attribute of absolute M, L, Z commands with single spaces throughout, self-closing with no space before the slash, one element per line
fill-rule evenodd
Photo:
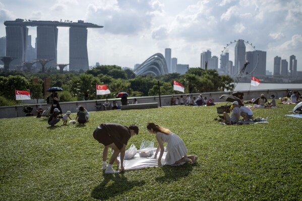
<path fill-rule="evenodd" d="M 145 181 L 128 181 L 124 174 L 105 174 L 104 180 L 96 186 L 91 196 L 95 199 L 106 200 L 118 194 L 123 194 L 124 191 L 131 190 L 134 186 L 142 186 Z"/>

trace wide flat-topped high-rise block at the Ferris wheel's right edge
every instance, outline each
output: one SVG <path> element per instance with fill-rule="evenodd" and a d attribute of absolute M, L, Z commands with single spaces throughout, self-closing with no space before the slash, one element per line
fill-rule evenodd
<path fill-rule="evenodd" d="M 250 63 L 247 65 L 245 74 L 248 73 L 248 74 L 253 74 L 255 76 L 265 76 L 266 51 L 261 51 L 261 50 L 247 51 L 246 58 Z"/>

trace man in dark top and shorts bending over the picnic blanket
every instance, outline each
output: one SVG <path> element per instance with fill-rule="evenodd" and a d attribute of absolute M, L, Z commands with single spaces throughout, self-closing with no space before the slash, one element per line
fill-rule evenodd
<path fill-rule="evenodd" d="M 117 123 L 102 123 L 93 131 L 93 138 L 99 143 L 103 144 L 103 165 L 102 169 L 106 174 L 119 173 L 112 169 L 112 164 L 116 161 L 118 154 L 120 153 L 120 170 L 124 171 L 124 157 L 126 151 L 126 145 L 132 136 L 138 135 L 139 128 L 136 125 L 130 125 L 129 127 Z M 108 155 L 108 148 L 114 150 L 109 164 L 106 166 L 106 160 Z"/>

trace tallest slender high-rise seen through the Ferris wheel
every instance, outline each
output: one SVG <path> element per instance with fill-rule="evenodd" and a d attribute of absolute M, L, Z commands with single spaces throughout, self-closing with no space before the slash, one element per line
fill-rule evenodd
<path fill-rule="evenodd" d="M 234 75 L 237 75 L 240 72 L 240 69 L 246 63 L 246 45 L 244 40 L 239 39 L 235 45 L 235 72 Z"/>

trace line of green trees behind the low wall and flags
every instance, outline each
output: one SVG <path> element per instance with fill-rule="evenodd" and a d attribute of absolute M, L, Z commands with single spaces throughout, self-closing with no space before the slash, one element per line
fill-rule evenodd
<path fill-rule="evenodd" d="M 130 96 L 158 95 L 158 81 L 161 95 L 183 94 L 173 91 L 173 80 L 185 87 L 185 93 L 204 93 L 233 90 L 233 79 L 227 75 L 218 75 L 216 70 L 191 68 L 186 74 L 170 73 L 162 76 L 152 74 L 136 76 L 132 70 L 123 70 L 117 65 L 99 65 L 86 72 L 59 73 L 53 70 L 45 74 L 13 71 L 0 73 L 0 106 L 14 105 L 15 89 L 31 93 L 32 99 L 45 98 L 44 79 L 50 79 L 51 87 L 61 87 L 60 102 L 115 98 L 119 92 L 128 92 Z M 35 81 L 33 81 L 35 79 Z M 38 80 L 38 81 L 37 81 Z M 110 94 L 96 96 L 96 84 L 107 85 Z"/>

